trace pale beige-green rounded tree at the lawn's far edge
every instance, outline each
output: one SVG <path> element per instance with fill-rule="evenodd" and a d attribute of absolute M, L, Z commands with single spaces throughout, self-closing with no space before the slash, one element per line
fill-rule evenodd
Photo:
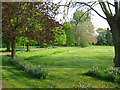
<path fill-rule="evenodd" d="M 81 45 L 82 47 L 86 47 L 92 43 L 96 43 L 96 37 L 94 36 L 94 26 L 90 20 L 79 23 L 77 25 L 75 35 L 77 37 L 77 45 Z"/>

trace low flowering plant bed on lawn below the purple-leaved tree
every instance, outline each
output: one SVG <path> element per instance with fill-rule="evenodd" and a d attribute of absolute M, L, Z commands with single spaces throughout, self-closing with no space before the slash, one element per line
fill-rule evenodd
<path fill-rule="evenodd" d="M 16 66 L 17 69 L 26 71 L 26 72 L 30 73 L 31 75 L 33 75 L 39 79 L 40 78 L 45 79 L 46 76 L 48 75 L 46 70 L 39 65 L 35 66 L 35 65 L 32 65 L 31 63 L 27 63 L 23 60 L 13 60 L 13 59 L 10 59 L 10 63 L 12 65 Z"/>

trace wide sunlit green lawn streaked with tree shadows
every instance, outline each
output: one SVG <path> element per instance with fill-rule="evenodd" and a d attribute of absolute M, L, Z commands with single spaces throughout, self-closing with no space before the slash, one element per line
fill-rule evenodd
<path fill-rule="evenodd" d="M 46 79 L 34 78 L 8 63 L 10 57 L 2 57 L 2 79 L 10 88 L 115 88 L 120 84 L 84 75 L 93 66 L 113 66 L 112 46 L 56 47 L 17 53 L 34 65 L 44 66 Z"/>

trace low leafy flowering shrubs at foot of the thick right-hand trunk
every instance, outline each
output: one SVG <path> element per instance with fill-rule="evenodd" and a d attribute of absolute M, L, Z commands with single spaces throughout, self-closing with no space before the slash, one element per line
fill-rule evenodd
<path fill-rule="evenodd" d="M 86 75 L 120 83 L 120 68 L 116 67 L 109 68 L 93 67 L 86 73 Z"/>

